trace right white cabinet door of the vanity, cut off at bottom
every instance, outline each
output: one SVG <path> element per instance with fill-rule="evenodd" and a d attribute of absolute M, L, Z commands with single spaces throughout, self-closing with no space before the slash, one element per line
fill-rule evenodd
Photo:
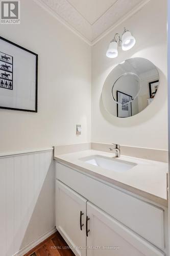
<path fill-rule="evenodd" d="M 164 253 L 87 202 L 87 256 L 163 256 Z"/>

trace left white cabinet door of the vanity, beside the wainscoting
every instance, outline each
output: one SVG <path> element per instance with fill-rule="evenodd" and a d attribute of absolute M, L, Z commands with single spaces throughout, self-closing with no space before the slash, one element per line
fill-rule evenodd
<path fill-rule="evenodd" d="M 86 202 L 74 190 L 56 181 L 56 228 L 78 256 L 86 256 Z"/>

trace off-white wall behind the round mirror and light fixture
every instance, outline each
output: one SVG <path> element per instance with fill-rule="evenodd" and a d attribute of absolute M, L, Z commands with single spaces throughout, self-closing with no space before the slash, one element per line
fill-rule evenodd
<path fill-rule="evenodd" d="M 92 141 L 167 149 L 166 12 L 166 0 L 151 0 L 92 48 Z M 109 59 L 109 41 L 116 32 L 121 34 L 124 26 L 135 36 L 136 45 L 127 52 L 119 48 L 118 57 Z M 121 119 L 104 109 L 102 87 L 113 67 L 131 57 L 152 61 L 158 68 L 160 86 L 144 111 Z"/>

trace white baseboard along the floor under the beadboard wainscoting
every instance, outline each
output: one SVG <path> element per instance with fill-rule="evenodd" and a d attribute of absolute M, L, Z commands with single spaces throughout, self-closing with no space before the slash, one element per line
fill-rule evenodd
<path fill-rule="evenodd" d="M 37 238 L 27 246 L 23 247 L 21 250 L 13 254 L 13 256 L 23 256 L 27 252 L 29 252 L 31 249 L 33 249 L 35 246 L 43 242 L 46 238 L 50 237 L 52 234 L 54 234 L 57 231 L 56 227 L 53 227 L 51 230 L 48 230 L 44 234 L 42 234 L 41 237 Z"/>

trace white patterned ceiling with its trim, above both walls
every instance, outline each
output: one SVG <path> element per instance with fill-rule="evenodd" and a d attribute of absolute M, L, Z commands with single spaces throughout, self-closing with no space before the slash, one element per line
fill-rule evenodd
<path fill-rule="evenodd" d="M 150 0 L 34 0 L 94 45 L 118 23 Z"/>

